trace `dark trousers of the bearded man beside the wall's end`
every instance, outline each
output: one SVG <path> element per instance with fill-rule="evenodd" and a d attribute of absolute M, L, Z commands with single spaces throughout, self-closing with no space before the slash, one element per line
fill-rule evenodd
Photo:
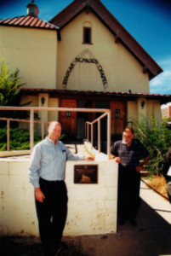
<path fill-rule="evenodd" d="M 118 217 L 134 219 L 140 207 L 140 173 L 119 166 L 118 175 Z"/>

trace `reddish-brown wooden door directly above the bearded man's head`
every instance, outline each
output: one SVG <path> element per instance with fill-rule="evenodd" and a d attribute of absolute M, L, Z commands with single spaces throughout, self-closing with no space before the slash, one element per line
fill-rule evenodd
<path fill-rule="evenodd" d="M 122 134 L 124 129 L 124 102 L 110 102 L 111 134 Z"/>

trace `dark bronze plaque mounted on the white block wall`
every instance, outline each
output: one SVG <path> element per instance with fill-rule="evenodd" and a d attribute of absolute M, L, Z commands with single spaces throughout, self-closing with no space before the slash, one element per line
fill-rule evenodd
<path fill-rule="evenodd" d="M 98 183 L 98 165 L 74 166 L 74 183 Z"/>

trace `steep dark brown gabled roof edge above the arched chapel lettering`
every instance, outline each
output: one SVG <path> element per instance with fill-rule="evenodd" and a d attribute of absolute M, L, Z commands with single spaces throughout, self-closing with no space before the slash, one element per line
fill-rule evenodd
<path fill-rule="evenodd" d="M 92 11 L 101 22 L 116 37 L 116 43 L 121 42 L 143 66 L 143 72 L 149 73 L 149 78 L 153 79 L 157 74 L 162 73 L 162 68 L 157 65 L 150 55 L 147 54 L 139 43 L 127 32 L 127 30 L 111 15 L 100 0 L 75 0 L 63 9 L 59 15 L 54 16 L 49 22 L 59 26 L 60 30 L 71 20 L 83 11 Z"/>

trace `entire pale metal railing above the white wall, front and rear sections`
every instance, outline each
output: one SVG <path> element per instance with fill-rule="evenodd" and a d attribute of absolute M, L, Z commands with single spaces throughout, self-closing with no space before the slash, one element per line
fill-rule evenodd
<path fill-rule="evenodd" d="M 95 119 L 93 124 L 95 122 L 98 122 L 98 149 L 100 150 L 100 119 L 107 116 L 107 156 L 108 159 L 110 159 L 111 154 L 111 110 L 110 109 L 100 109 L 100 108 L 44 108 L 44 107 L 0 107 L 0 110 L 8 111 L 8 110 L 22 110 L 22 111 L 30 111 L 30 119 L 6 119 L 7 120 L 7 137 L 9 141 L 9 122 L 10 120 L 13 121 L 23 121 L 30 123 L 30 149 L 32 151 L 32 148 L 34 146 L 34 123 L 42 123 L 42 124 L 48 124 L 49 122 L 42 122 L 38 120 L 34 120 L 34 112 L 35 111 L 65 111 L 65 112 L 87 112 L 87 113 L 102 113 L 102 115 Z M 1 118 L 3 119 L 3 118 Z M 93 125 L 92 124 L 92 125 Z M 90 125 L 90 123 L 88 123 Z M 43 126 L 42 126 L 43 127 Z M 88 131 L 88 129 L 87 129 Z M 42 131 L 43 132 L 43 131 Z M 92 136 L 91 136 L 91 143 L 93 146 L 93 128 L 92 128 Z M 43 133 L 42 133 L 43 134 Z"/>

